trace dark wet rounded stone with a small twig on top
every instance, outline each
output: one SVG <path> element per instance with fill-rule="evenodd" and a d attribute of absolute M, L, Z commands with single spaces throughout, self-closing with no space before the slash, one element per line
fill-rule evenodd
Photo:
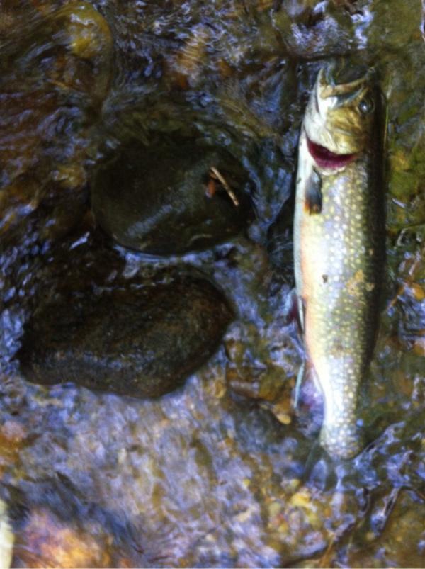
<path fill-rule="evenodd" d="M 211 179 L 217 169 L 238 205 Z M 150 254 L 206 249 L 253 216 L 246 171 L 224 150 L 179 139 L 134 142 L 98 169 L 91 192 L 96 221 L 120 244 Z"/>

